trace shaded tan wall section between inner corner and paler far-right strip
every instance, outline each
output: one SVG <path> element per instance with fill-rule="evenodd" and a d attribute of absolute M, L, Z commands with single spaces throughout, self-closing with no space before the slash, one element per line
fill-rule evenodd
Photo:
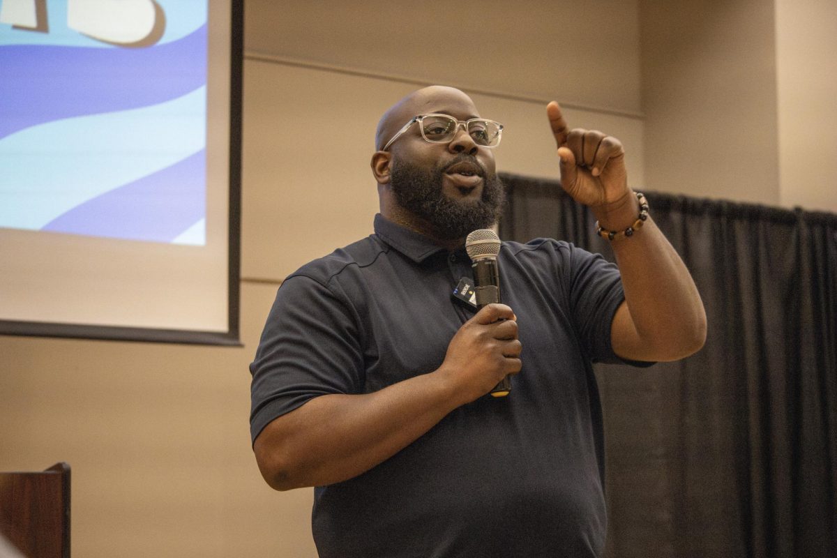
<path fill-rule="evenodd" d="M 639 7 L 649 189 L 777 205 L 772 0 Z"/>

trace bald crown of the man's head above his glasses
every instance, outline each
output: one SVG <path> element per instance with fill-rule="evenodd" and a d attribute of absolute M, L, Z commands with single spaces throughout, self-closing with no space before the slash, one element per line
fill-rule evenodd
<path fill-rule="evenodd" d="M 403 125 L 415 115 L 431 113 L 454 114 L 462 113 L 468 118 L 480 115 L 474 101 L 462 91 L 445 85 L 430 85 L 424 89 L 413 91 L 398 103 L 391 106 L 377 123 L 375 132 L 375 149 L 380 151 L 383 146 L 395 136 Z"/>

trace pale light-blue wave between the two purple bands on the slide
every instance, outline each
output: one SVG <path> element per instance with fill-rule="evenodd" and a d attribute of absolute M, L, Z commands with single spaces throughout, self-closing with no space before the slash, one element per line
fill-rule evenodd
<path fill-rule="evenodd" d="M 0 139 L 0 227 L 38 230 L 206 147 L 206 87 L 159 105 L 34 125 Z"/>

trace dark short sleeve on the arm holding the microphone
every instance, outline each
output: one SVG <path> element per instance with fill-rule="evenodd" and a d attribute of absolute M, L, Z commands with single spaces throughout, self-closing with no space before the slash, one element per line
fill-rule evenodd
<path fill-rule="evenodd" d="M 250 364 L 252 440 L 313 397 L 359 392 L 362 350 L 347 300 L 305 275 L 281 284 Z"/>

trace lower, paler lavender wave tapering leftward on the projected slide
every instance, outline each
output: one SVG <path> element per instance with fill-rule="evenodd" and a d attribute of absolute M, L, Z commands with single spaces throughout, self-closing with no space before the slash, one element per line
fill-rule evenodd
<path fill-rule="evenodd" d="M 172 242 L 206 213 L 206 150 L 65 212 L 42 230 Z"/>

